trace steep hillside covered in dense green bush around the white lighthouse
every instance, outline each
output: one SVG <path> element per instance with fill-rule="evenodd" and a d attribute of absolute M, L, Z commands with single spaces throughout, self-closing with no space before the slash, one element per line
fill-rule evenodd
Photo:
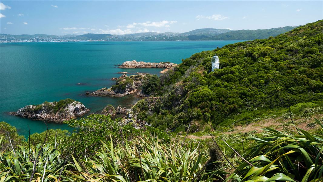
<path fill-rule="evenodd" d="M 277 37 L 196 53 L 162 74 L 153 97 L 139 101 L 134 115 L 177 132 L 191 123 L 194 132 L 278 117 L 289 106 L 297 114 L 322 107 L 322 30 L 323 20 Z M 221 69 L 210 72 L 214 54 Z"/>

